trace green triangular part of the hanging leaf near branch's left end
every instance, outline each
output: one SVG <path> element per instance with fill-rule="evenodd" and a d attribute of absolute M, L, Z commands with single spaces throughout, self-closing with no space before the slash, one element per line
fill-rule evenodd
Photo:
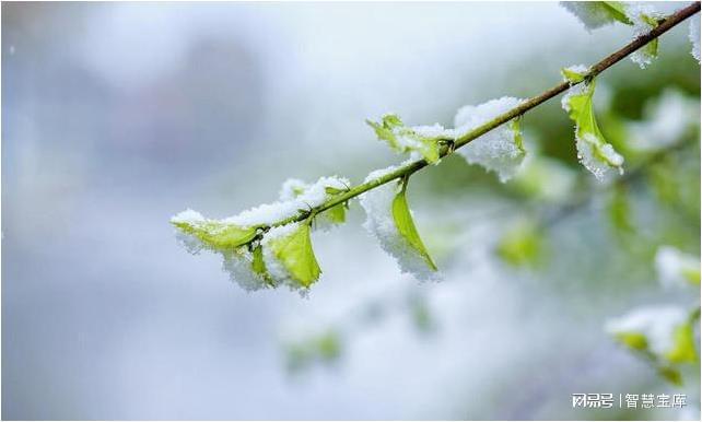
<path fill-rule="evenodd" d="M 315 258 L 309 238 L 309 224 L 300 223 L 291 234 L 272 239 L 269 244 L 276 258 L 290 272 L 291 279 L 309 288 L 319 279 L 321 270 Z"/>

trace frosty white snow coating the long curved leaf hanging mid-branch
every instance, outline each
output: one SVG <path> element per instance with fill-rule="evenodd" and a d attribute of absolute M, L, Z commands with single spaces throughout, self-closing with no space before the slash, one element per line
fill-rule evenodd
<path fill-rule="evenodd" d="M 364 181 L 370 181 L 397 169 L 396 166 L 372 172 Z M 393 256 L 402 272 L 413 274 L 419 280 L 438 280 L 440 273 L 432 271 L 424 257 L 399 233 L 393 218 L 393 201 L 399 191 L 395 181 L 378 186 L 361 195 L 361 207 L 366 220 L 363 227 L 375 236 L 383 250 Z"/>

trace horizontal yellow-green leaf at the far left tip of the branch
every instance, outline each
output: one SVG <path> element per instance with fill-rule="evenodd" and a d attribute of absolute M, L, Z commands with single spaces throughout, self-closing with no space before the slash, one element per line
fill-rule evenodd
<path fill-rule="evenodd" d="M 256 227 L 241 227 L 217 220 L 172 223 L 183 233 L 195 236 L 206 246 L 220 251 L 235 249 L 256 237 Z"/>

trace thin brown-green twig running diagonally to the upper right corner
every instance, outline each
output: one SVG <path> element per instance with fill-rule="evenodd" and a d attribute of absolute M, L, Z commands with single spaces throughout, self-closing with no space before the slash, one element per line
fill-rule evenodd
<path fill-rule="evenodd" d="M 645 46 L 651 40 L 659 37 L 663 34 L 665 34 L 666 32 L 668 32 L 669 30 L 671 30 L 672 27 L 675 27 L 676 25 L 678 25 L 679 23 L 681 23 L 686 19 L 690 17 L 691 15 L 698 13 L 699 11 L 700 11 L 700 2 L 694 2 L 694 3 L 690 4 L 690 5 L 688 5 L 687 8 L 683 8 L 681 10 L 677 11 L 676 13 L 671 14 L 670 16 L 665 19 L 658 26 L 656 26 L 655 28 L 653 28 L 648 33 L 637 37 L 636 39 L 634 39 L 633 42 L 629 43 L 628 45 L 625 45 L 621 49 L 612 52 L 611 55 L 607 56 L 606 58 L 604 58 L 599 62 L 593 65 L 589 68 L 588 72 L 586 73 L 585 80 L 588 80 L 588 79 L 592 79 L 592 78 L 598 75 L 602 71 L 607 70 L 611 66 L 613 66 L 617 62 L 621 61 L 627 56 L 629 56 L 632 52 L 636 51 L 639 48 Z M 543 93 L 541 93 L 541 94 L 539 94 L 537 96 L 534 96 L 534 97 L 525 101 L 524 103 L 522 103 L 517 107 L 514 107 L 513 109 L 511 109 L 511 110 L 508 110 L 508 112 L 495 117 L 494 119 L 485 122 L 484 125 L 479 126 L 478 128 L 476 128 L 476 129 L 463 134 L 461 137 L 457 138 L 454 141 L 454 148 L 453 149 L 449 149 L 448 146 L 442 148 L 440 156 L 444 157 L 446 155 L 452 154 L 456 149 L 466 145 L 467 143 L 469 143 L 470 141 L 475 140 L 476 138 L 481 137 L 482 134 L 484 134 L 484 133 L 495 129 L 496 127 L 499 127 L 499 126 L 501 126 L 501 125 L 514 119 L 515 117 L 524 115 L 526 112 L 530 110 L 531 108 L 535 108 L 535 107 L 539 106 L 540 104 L 542 104 L 542 103 L 553 98 L 554 96 L 565 92 L 571 86 L 577 85 L 578 83 L 582 83 L 582 82 L 577 82 L 577 83 L 563 82 L 563 83 L 560 83 L 560 84 L 547 90 L 546 92 L 543 92 Z M 387 184 L 387 183 L 389 183 L 391 180 L 409 176 L 412 173 L 414 173 L 414 172 L 417 172 L 417 171 L 419 171 L 421 168 L 424 168 L 428 165 L 429 165 L 429 163 L 426 161 L 424 161 L 424 160 L 420 160 L 420 161 L 416 161 L 416 162 L 411 162 L 411 163 L 401 165 L 400 167 L 396 168 L 393 172 L 389 172 L 388 174 L 386 174 L 386 175 L 384 175 L 382 177 L 378 177 L 378 178 L 373 179 L 373 180 L 368 180 L 366 183 L 363 183 L 361 185 L 358 185 L 358 186 L 349 189 L 348 191 L 346 191 L 343 194 L 335 196 L 334 198 L 329 199 L 328 201 L 326 201 L 321 206 L 318 206 L 318 207 L 314 208 L 311 211 L 306 211 L 306 212 L 301 213 L 299 215 L 294 215 L 294 216 L 281 220 L 279 222 L 272 224 L 271 226 L 281 226 L 281 225 L 290 224 L 290 223 L 293 223 L 293 222 L 303 221 L 303 220 L 307 219 L 313 213 L 316 214 L 316 213 L 326 211 L 326 210 L 328 210 L 328 209 L 330 209 L 330 208 L 332 208 L 335 206 L 338 206 L 340 203 L 347 202 L 348 200 L 350 200 L 352 198 L 355 198 L 355 197 L 358 197 L 359 195 L 361 195 L 361 194 L 363 194 L 365 191 L 375 189 L 376 187 L 385 185 L 385 184 Z"/>

